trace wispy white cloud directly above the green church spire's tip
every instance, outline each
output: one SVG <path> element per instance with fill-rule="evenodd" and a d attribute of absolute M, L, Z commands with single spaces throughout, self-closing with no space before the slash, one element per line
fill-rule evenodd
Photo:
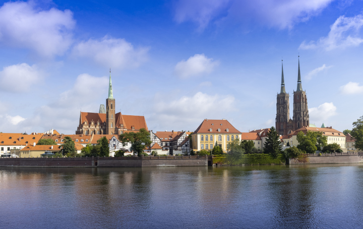
<path fill-rule="evenodd" d="M 89 39 L 77 44 L 73 54 L 92 58 L 104 67 L 138 67 L 148 59 L 148 48 L 134 46 L 125 39 L 105 36 L 101 40 Z"/>

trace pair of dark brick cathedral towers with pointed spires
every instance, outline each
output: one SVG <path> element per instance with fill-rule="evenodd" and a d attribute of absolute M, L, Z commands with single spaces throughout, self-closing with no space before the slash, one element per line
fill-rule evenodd
<path fill-rule="evenodd" d="M 281 91 L 277 94 L 276 103 L 276 130 L 280 135 L 290 134 L 301 128 L 309 127 L 309 110 L 306 92 L 302 91 L 300 76 L 300 60 L 298 60 L 297 88 L 293 92 L 293 111 L 290 118 L 290 95 L 285 91 L 283 65 L 281 74 Z"/>

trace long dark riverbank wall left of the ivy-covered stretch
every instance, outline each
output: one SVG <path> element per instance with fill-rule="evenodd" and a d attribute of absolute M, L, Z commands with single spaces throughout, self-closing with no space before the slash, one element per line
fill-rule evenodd
<path fill-rule="evenodd" d="M 2 158 L 0 167 L 179 167 L 208 166 L 207 156 Z"/>

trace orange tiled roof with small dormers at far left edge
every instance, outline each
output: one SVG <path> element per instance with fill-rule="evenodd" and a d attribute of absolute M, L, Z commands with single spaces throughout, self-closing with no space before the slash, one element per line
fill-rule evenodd
<path fill-rule="evenodd" d="M 26 145 L 37 143 L 43 135 L 22 133 L 0 133 L 0 145 Z"/>

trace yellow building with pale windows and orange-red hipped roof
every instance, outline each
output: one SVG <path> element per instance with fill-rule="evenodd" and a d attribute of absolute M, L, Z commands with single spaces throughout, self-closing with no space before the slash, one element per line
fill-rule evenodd
<path fill-rule="evenodd" d="M 234 128 L 227 120 L 204 119 L 192 133 L 192 147 L 194 151 L 213 149 L 215 142 L 227 151 L 228 142 L 240 139 L 241 132 Z"/>

